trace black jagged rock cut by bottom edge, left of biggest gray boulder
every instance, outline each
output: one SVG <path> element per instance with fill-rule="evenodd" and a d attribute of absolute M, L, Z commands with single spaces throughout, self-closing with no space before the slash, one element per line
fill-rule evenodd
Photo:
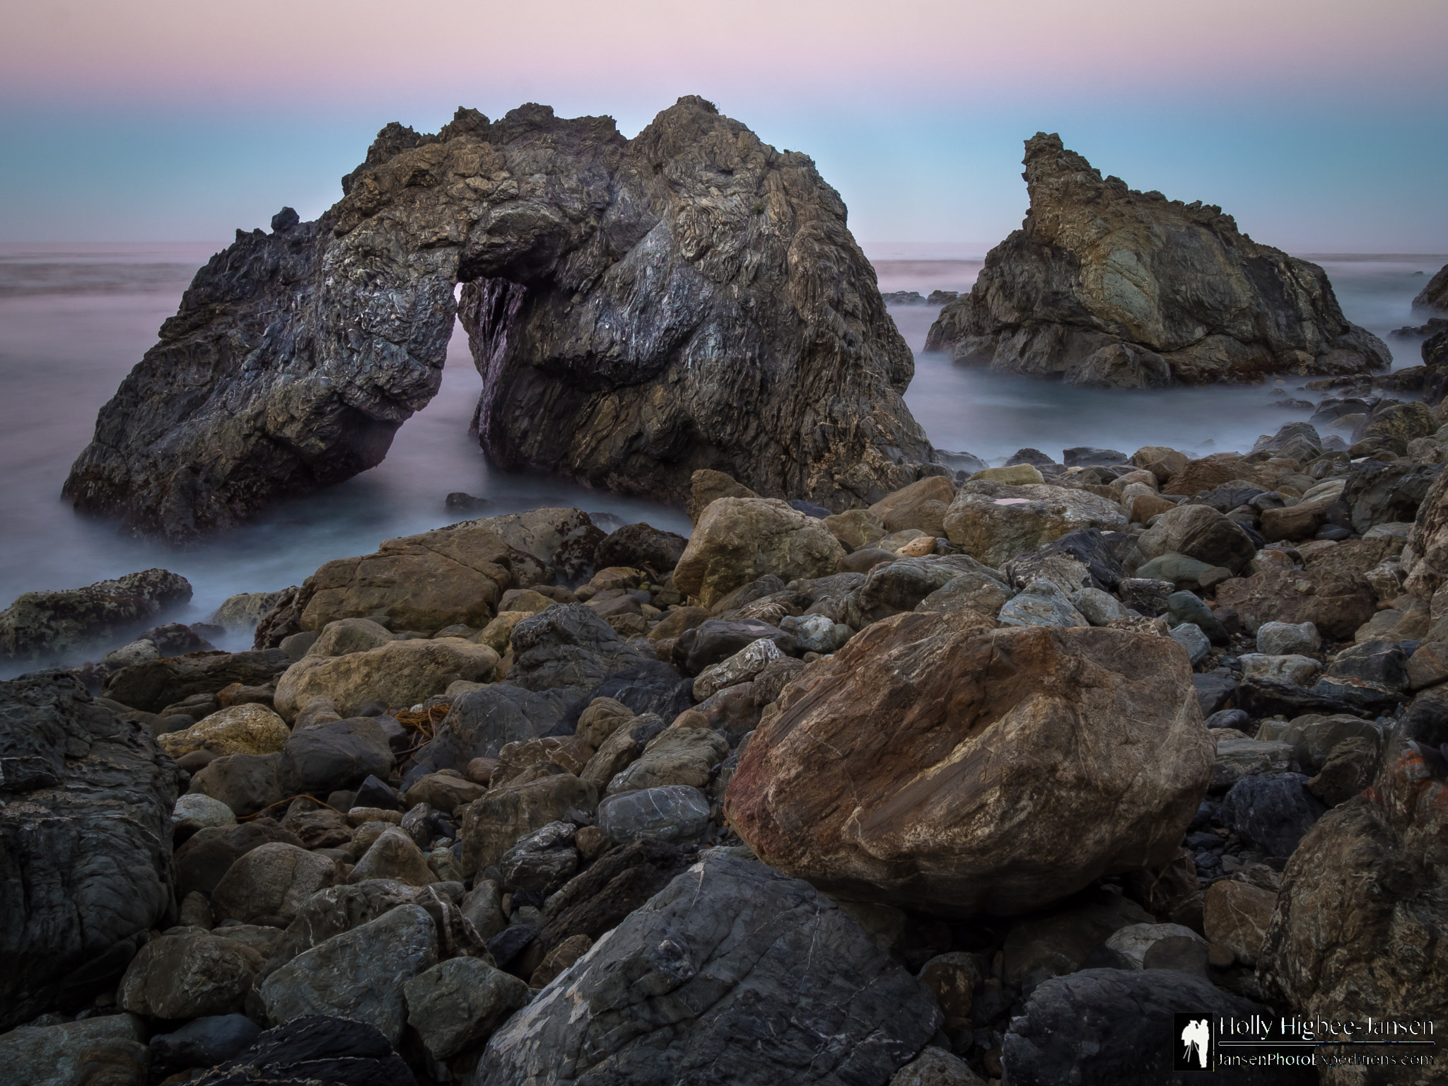
<path fill-rule="evenodd" d="M 375 1027 L 330 1015 L 301 1015 L 194 1082 L 206 1086 L 400 1086 L 413 1082 L 403 1057 Z"/>

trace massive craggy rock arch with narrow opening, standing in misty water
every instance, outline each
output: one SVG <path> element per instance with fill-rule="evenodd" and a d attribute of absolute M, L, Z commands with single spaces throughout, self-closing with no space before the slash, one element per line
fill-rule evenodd
<path fill-rule="evenodd" d="M 101 408 L 77 508 L 187 540 L 376 465 L 437 391 L 458 313 L 478 439 L 507 468 L 681 504 L 715 468 L 844 508 L 930 459 L 838 194 L 702 98 L 631 140 L 533 104 L 392 123 L 343 193 L 197 274 Z"/>

